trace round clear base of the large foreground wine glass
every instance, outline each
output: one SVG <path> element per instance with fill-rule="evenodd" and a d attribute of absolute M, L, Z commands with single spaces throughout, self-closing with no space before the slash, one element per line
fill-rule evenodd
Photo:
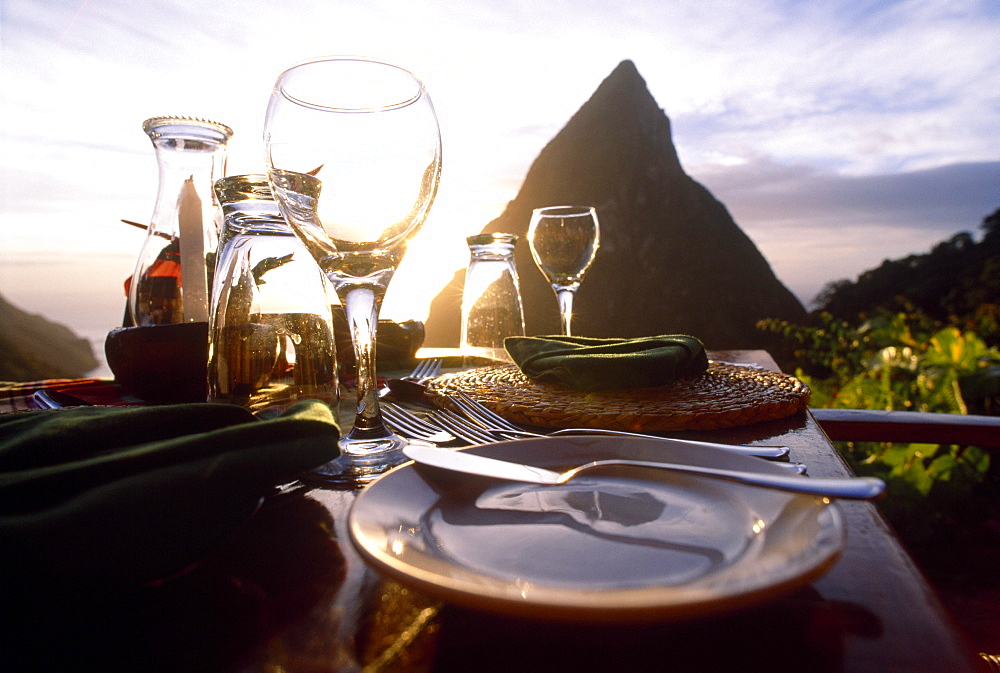
<path fill-rule="evenodd" d="M 364 440 L 343 437 L 339 444 L 340 456 L 310 471 L 303 481 L 360 488 L 392 468 L 409 462 L 410 459 L 403 454 L 403 447 L 409 444 L 428 445 L 427 442 L 397 435 Z"/>

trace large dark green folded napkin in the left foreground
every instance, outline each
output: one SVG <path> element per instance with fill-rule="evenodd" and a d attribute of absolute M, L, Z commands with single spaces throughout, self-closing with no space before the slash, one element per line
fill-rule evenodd
<path fill-rule="evenodd" d="M 336 458 L 339 436 L 311 400 L 264 421 L 202 403 L 0 416 L 0 586 L 177 573 L 275 486 Z"/>

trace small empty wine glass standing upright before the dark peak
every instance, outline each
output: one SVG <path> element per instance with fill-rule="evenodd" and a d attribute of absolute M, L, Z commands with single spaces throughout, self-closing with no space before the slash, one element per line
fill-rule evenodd
<path fill-rule="evenodd" d="M 573 293 L 594 262 L 600 244 L 597 211 L 591 206 L 549 206 L 531 211 L 528 246 L 559 300 L 566 336 L 570 336 L 573 319 Z"/>

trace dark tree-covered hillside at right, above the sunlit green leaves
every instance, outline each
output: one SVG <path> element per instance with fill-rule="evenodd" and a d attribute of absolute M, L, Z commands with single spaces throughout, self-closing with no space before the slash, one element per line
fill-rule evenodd
<path fill-rule="evenodd" d="M 983 219 L 982 229 L 978 242 L 962 232 L 930 252 L 886 260 L 853 282 L 830 283 L 817 297 L 816 312 L 853 321 L 879 309 L 909 304 L 936 320 L 957 319 L 978 327 L 985 332 L 980 336 L 998 345 L 1000 209 Z"/>

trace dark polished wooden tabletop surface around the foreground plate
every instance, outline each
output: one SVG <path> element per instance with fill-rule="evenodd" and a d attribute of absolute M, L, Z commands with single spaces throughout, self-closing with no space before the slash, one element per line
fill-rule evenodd
<path fill-rule="evenodd" d="M 762 351 L 713 356 L 775 367 Z M 685 436 L 785 444 L 811 475 L 850 474 L 808 413 Z M 840 503 L 841 558 L 790 596 L 683 623 L 580 625 L 442 604 L 382 578 L 348 537 L 356 494 L 279 495 L 210 559 L 162 586 L 44 599 L 37 614 L 17 615 L 41 644 L 20 643 L 34 653 L 26 666 L 61 648 L 81 668 L 119 670 L 987 670 L 872 503 Z"/>

